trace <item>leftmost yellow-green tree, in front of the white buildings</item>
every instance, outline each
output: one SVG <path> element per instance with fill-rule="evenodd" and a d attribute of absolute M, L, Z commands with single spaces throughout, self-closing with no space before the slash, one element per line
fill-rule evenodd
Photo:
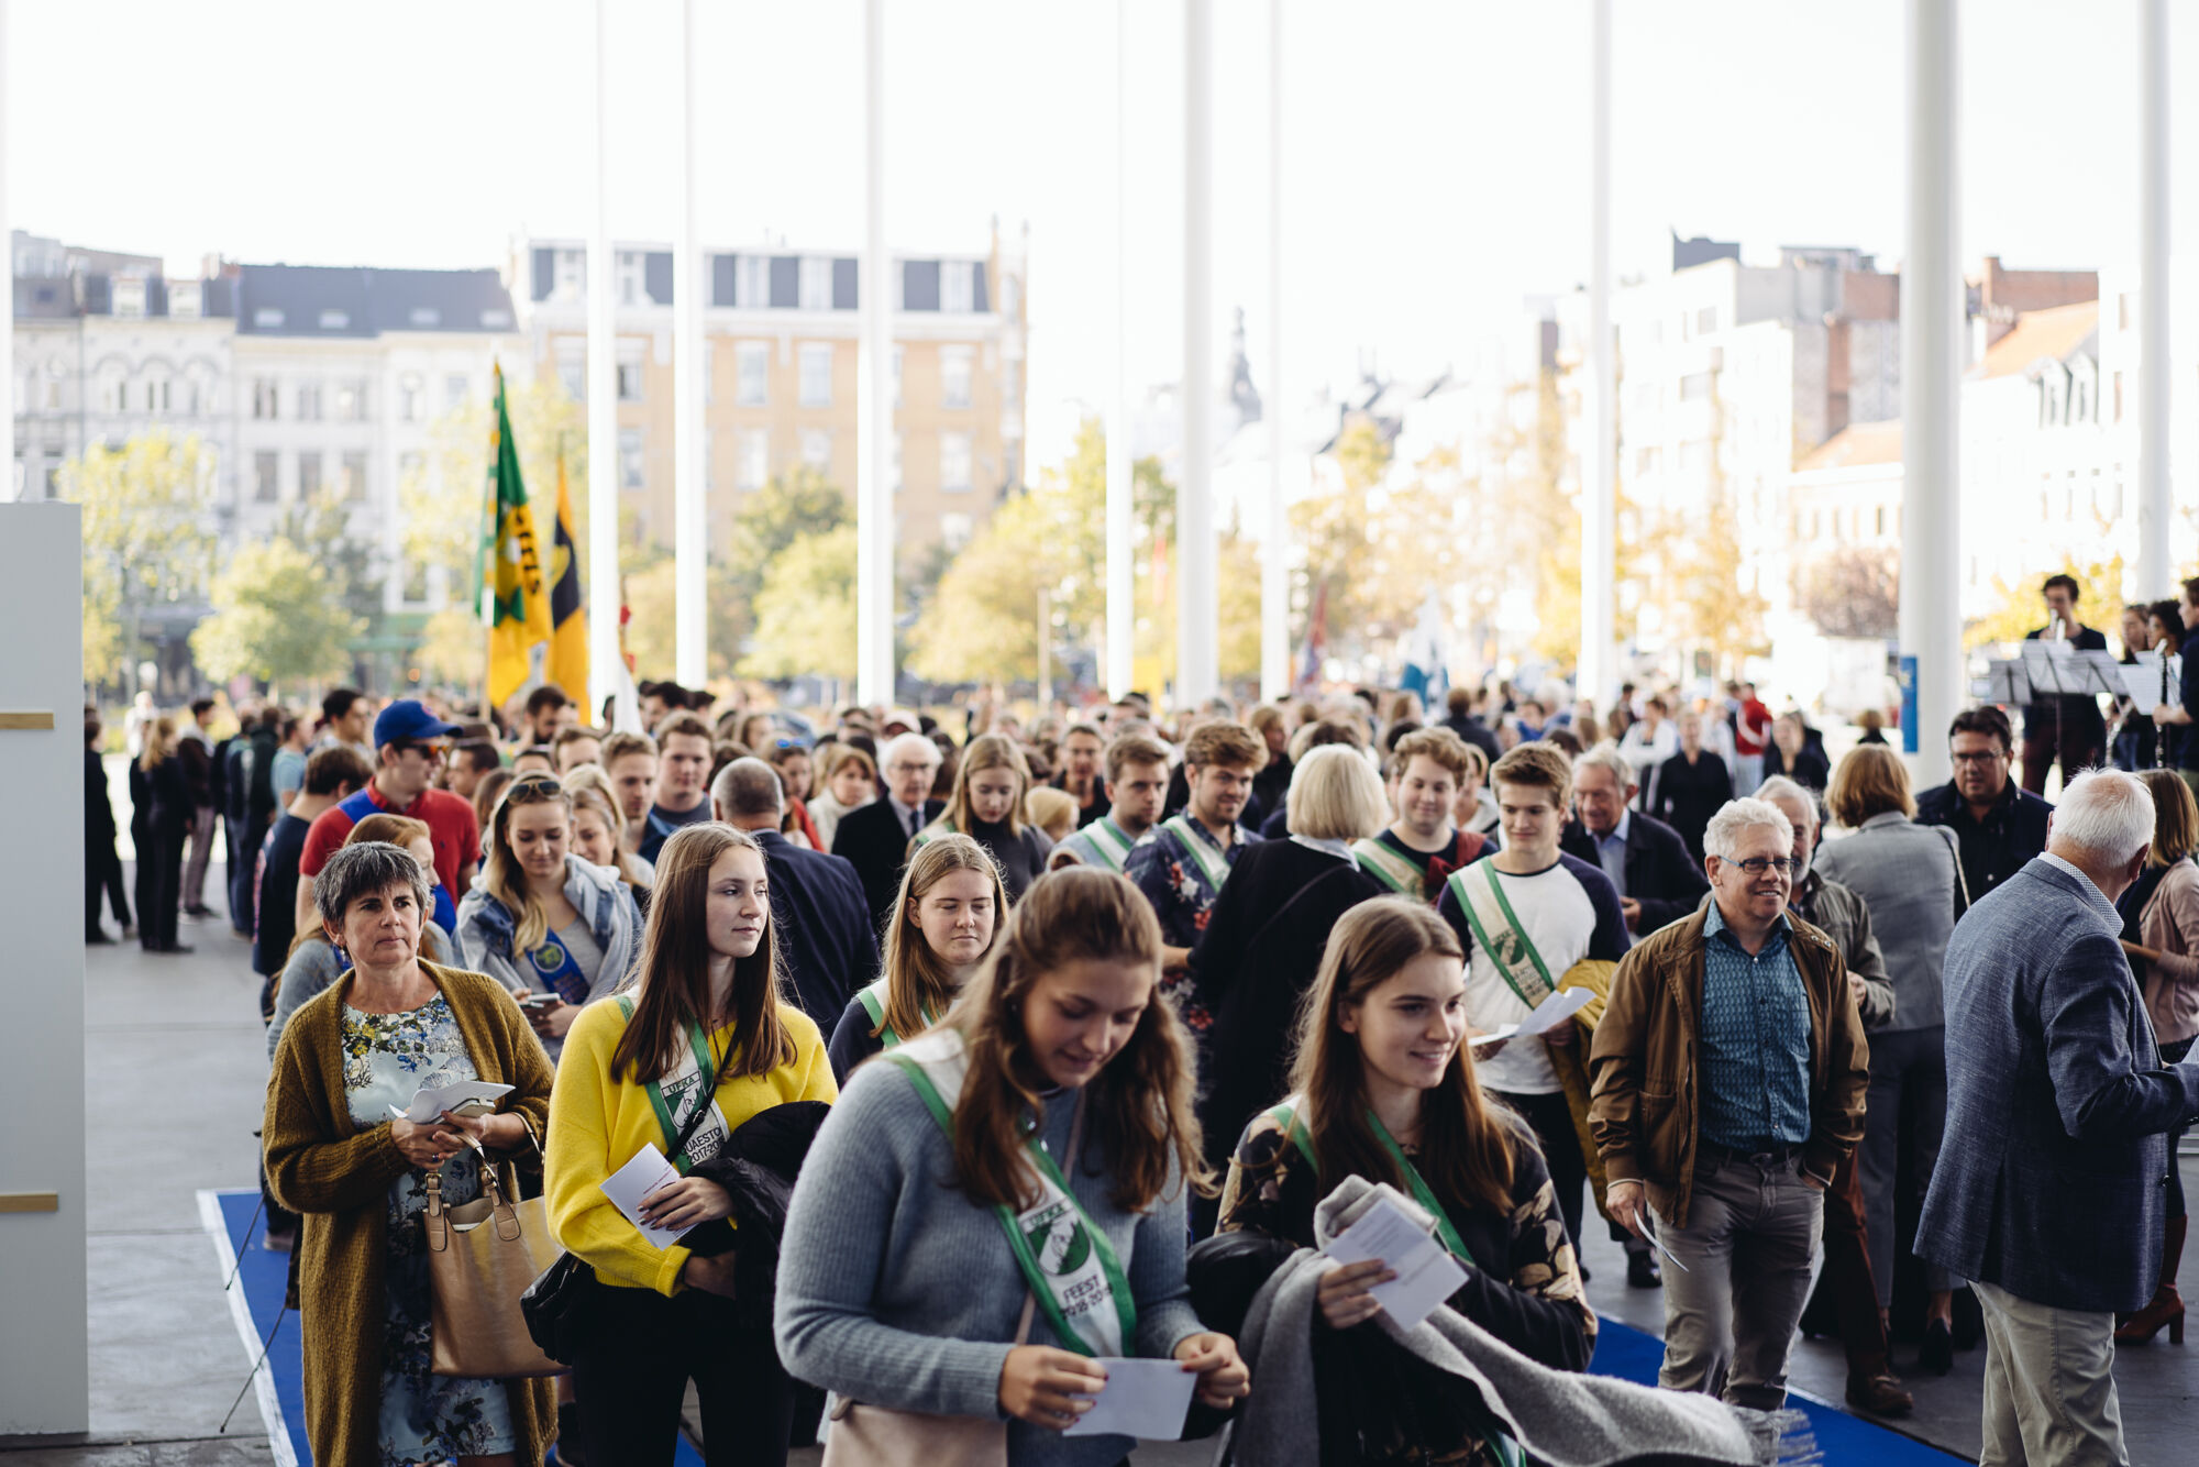
<path fill-rule="evenodd" d="M 145 616 L 205 596 L 213 572 L 213 455 L 198 435 L 154 429 L 121 449 L 92 444 L 62 466 L 84 506 L 84 677 L 121 682 Z"/>

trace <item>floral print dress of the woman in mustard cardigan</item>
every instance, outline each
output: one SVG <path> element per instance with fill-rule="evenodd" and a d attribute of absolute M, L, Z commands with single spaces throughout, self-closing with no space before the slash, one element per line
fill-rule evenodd
<path fill-rule="evenodd" d="M 352 1124 L 378 1126 L 389 1106 L 405 1108 L 420 1087 L 477 1080 L 457 1016 L 442 994 L 402 1014 L 343 1007 L 343 1095 Z M 479 1159 L 468 1150 L 442 1166 L 444 1203 L 482 1194 Z M 383 1467 L 446 1463 L 460 1456 L 515 1452 L 504 1381 L 429 1372 L 431 1284 L 427 1271 L 427 1170 L 407 1168 L 389 1183 L 389 1256 L 383 1284 Z"/>

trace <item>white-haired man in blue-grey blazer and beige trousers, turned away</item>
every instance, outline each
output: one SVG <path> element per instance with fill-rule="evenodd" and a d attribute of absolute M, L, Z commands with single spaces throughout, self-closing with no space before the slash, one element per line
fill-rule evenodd
<path fill-rule="evenodd" d="M 2098 770 L 2054 812 L 2045 856 L 1946 950 L 1948 1113 L 1918 1256 L 1986 1311 L 1981 1467 L 2124 1465 L 2115 1311 L 2153 1298 L 2173 1126 L 2199 1062 L 2162 1067 L 2115 897 L 2153 842 L 2153 796 Z"/>

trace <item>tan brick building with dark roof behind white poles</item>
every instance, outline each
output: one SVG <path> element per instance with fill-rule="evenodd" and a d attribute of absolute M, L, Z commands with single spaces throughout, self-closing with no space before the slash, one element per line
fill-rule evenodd
<path fill-rule="evenodd" d="M 673 253 L 618 244 L 618 488 L 644 543 L 673 543 Z M 537 372 L 587 398 L 587 249 L 528 240 L 523 330 Z M 1025 482 L 1027 262 L 893 260 L 895 541 L 959 550 Z M 706 251 L 704 493 L 712 539 L 800 466 L 855 490 L 860 260 L 787 246 Z"/>

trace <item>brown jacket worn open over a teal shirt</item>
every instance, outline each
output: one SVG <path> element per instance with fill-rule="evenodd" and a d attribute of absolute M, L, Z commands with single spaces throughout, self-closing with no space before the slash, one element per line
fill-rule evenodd
<path fill-rule="evenodd" d="M 1607 1181 L 1640 1181 L 1649 1205 L 1687 1227 L 1702 1135 L 1702 952 L 1704 897 L 1682 917 L 1638 941 L 1612 974 L 1612 999 L 1588 1051 L 1588 1128 Z M 1810 1001 L 1810 1139 L 1803 1166 L 1832 1170 L 1863 1139 L 1863 1093 L 1871 1049 L 1847 990 L 1841 950 L 1790 915 L 1788 948 Z"/>

